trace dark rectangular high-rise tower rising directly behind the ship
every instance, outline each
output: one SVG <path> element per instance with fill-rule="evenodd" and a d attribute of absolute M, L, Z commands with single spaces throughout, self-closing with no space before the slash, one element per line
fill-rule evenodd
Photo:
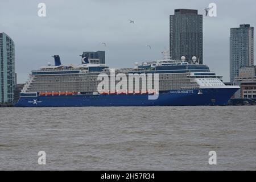
<path fill-rule="evenodd" d="M 197 10 L 176 9 L 170 15 L 170 57 L 180 60 L 181 56 L 188 62 L 196 56 L 203 64 L 203 15 Z"/>

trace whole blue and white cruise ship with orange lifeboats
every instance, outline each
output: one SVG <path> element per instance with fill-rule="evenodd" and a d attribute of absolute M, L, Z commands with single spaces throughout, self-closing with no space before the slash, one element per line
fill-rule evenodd
<path fill-rule="evenodd" d="M 184 56 L 181 60 L 135 63 L 134 68 L 114 69 L 114 75 L 113 69 L 97 59 L 82 56 L 79 65 L 63 65 L 59 56 L 53 57 L 55 65 L 48 63 L 31 71 L 15 106 L 227 105 L 230 97 L 240 89 L 239 86 L 226 86 L 221 76 L 210 71 L 207 65 L 199 64 L 195 56 L 190 63 Z M 109 85 L 99 86 L 102 80 Z M 145 80 L 146 86 L 143 86 Z M 127 84 L 120 86 L 120 82 Z"/>

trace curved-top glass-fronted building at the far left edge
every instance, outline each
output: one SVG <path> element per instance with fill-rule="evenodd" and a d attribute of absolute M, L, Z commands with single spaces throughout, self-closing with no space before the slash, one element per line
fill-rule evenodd
<path fill-rule="evenodd" d="M 13 103 L 15 90 L 15 48 L 14 42 L 0 33 L 0 103 Z"/>

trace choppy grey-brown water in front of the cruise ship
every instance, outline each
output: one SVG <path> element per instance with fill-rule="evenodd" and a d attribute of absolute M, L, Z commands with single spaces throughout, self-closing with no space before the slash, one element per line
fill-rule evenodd
<path fill-rule="evenodd" d="M 256 106 L 0 108 L 0 169 L 255 170 Z"/>

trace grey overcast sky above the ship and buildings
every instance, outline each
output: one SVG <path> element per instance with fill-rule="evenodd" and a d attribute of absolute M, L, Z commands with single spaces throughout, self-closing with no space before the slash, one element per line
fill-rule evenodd
<path fill-rule="evenodd" d="M 60 55 L 63 64 L 80 64 L 82 51 L 102 50 L 112 68 L 162 59 L 160 52 L 169 49 L 169 15 L 174 9 L 197 9 L 204 15 L 210 2 L 217 5 L 217 17 L 203 16 L 204 64 L 229 81 L 229 30 L 256 24 L 255 0 L 0 1 L 0 32 L 15 42 L 18 83 L 25 82 L 32 69 L 53 63 L 53 55 Z M 46 17 L 38 16 L 40 2 L 46 3 Z"/>

